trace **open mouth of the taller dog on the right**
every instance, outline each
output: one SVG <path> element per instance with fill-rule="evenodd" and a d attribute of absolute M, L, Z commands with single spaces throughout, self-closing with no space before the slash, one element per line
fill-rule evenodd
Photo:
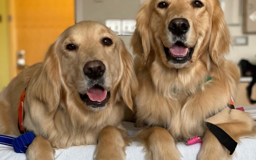
<path fill-rule="evenodd" d="M 194 47 L 187 47 L 184 43 L 178 41 L 172 47 L 165 47 L 164 51 L 167 60 L 172 63 L 186 63 L 192 58 L 194 52 Z"/>

